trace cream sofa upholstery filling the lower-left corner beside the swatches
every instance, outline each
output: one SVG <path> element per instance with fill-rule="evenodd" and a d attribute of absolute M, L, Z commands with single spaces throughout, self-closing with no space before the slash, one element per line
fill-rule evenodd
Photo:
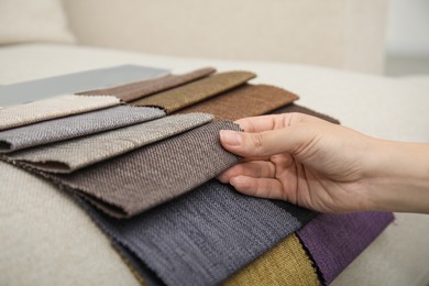
<path fill-rule="evenodd" d="M 0 285 L 139 285 L 85 211 L 0 162 Z"/>

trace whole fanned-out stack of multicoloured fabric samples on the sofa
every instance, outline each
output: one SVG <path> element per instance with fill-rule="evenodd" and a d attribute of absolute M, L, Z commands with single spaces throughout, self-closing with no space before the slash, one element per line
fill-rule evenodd
<path fill-rule="evenodd" d="M 254 77 L 201 68 L 1 108 L 1 160 L 73 196 L 142 284 L 329 284 L 394 217 L 321 215 L 217 182 L 240 162 L 219 143 L 237 119 L 339 123 Z"/>

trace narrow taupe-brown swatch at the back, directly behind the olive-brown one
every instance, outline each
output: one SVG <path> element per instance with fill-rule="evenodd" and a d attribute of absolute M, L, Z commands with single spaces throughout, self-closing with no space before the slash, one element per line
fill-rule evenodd
<path fill-rule="evenodd" d="M 141 80 L 141 81 L 117 86 L 112 88 L 85 91 L 85 92 L 80 92 L 79 95 L 87 95 L 87 96 L 109 95 L 109 96 L 116 96 L 122 99 L 123 101 L 129 102 L 142 97 L 146 97 L 148 95 L 153 95 L 169 88 L 174 88 L 197 80 L 215 72 L 216 72 L 215 68 L 207 67 L 184 75 L 166 75 L 154 79 Z"/>

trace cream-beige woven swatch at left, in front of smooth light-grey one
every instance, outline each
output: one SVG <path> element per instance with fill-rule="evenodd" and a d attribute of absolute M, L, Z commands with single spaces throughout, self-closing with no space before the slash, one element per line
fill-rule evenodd
<path fill-rule="evenodd" d="M 30 103 L 0 108 L 0 130 L 28 125 L 97 109 L 118 106 L 116 97 L 79 97 L 65 95 Z"/>

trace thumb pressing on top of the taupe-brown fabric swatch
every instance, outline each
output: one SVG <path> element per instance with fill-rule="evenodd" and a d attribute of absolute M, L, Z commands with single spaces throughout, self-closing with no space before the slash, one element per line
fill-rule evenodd
<path fill-rule="evenodd" d="M 314 129 L 304 124 L 260 133 L 220 131 L 222 146 L 242 157 L 266 157 L 285 152 L 297 154 L 315 138 Z"/>

